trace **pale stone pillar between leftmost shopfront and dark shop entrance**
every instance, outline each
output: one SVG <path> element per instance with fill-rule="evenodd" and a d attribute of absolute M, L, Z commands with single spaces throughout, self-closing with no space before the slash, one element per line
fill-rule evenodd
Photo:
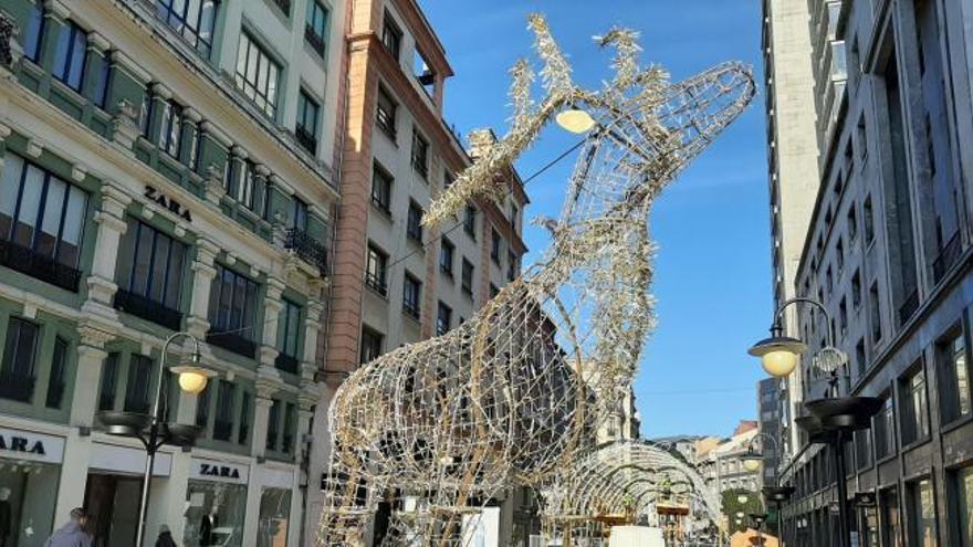
<path fill-rule="evenodd" d="M 71 400 L 72 428 L 64 443 L 64 464 L 54 509 L 55 523 L 67 522 L 71 509 L 84 505 L 84 488 L 92 455 L 91 428 L 97 409 L 102 362 L 107 357 L 104 348 L 114 338 L 108 333 L 107 329 L 94 325 L 79 327 L 81 343 L 77 346 L 74 395 Z"/>

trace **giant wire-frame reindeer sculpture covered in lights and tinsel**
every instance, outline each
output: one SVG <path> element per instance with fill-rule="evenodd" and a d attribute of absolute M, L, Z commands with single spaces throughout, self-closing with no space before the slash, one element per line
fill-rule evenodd
<path fill-rule="evenodd" d="M 754 94 L 750 70 L 737 63 L 677 84 L 661 69 L 642 70 L 637 34 L 621 29 L 597 39 L 616 52 L 614 78 L 583 90 L 545 20 L 532 15 L 530 28 L 544 97 L 532 99 L 534 73 L 519 62 L 509 133 L 423 222 L 503 196 L 500 173 L 556 114 L 582 108 L 595 127 L 561 217 L 541 221 L 551 246 L 467 323 L 383 355 L 342 385 L 329 415 L 321 545 L 360 545 L 381 504 L 391 507 L 387 544 L 460 545 L 462 522 L 478 506 L 552 480 L 589 448 L 603 409 L 628 390 L 653 326 L 651 204 Z"/>

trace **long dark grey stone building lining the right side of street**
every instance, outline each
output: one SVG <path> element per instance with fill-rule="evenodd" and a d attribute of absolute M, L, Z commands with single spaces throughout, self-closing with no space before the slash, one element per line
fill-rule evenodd
<path fill-rule="evenodd" d="M 794 291 L 824 302 L 831 322 L 805 307 L 789 334 L 813 355 L 831 329 L 850 358 L 841 391 L 886 403 L 844 449 L 847 477 L 799 435 L 783 476 L 797 487 L 789 544 L 837 544 L 829 503 L 840 478 L 878 499 L 857 509 L 859 545 L 969 545 L 973 6 L 808 7 L 820 185 Z M 808 359 L 795 374 L 801 397 L 820 397 Z"/>

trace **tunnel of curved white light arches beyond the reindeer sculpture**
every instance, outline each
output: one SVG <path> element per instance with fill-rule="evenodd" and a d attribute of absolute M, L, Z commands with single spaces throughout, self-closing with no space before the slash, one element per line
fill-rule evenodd
<path fill-rule="evenodd" d="M 646 440 L 603 444 L 575 461 L 544 488 L 543 513 L 552 523 L 626 513 L 650 516 L 668 493 L 701 508 L 715 527 L 722 526 L 720 498 L 695 467 L 670 446 Z"/>

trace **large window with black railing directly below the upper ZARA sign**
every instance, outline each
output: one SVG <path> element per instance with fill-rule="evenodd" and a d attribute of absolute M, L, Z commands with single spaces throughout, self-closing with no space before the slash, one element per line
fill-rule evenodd
<path fill-rule="evenodd" d="M 115 267 L 115 283 L 123 295 L 122 298 L 116 298 L 116 307 L 127 303 L 126 312 L 178 329 L 185 262 L 186 245 L 145 222 L 128 218 L 127 229 L 118 245 Z M 144 305 L 128 302 L 133 298 L 139 299 Z M 165 312 L 176 312 L 176 325 L 170 325 L 171 320 L 167 325 L 165 322 L 169 317 L 156 315 L 159 306 L 165 307 Z"/>

